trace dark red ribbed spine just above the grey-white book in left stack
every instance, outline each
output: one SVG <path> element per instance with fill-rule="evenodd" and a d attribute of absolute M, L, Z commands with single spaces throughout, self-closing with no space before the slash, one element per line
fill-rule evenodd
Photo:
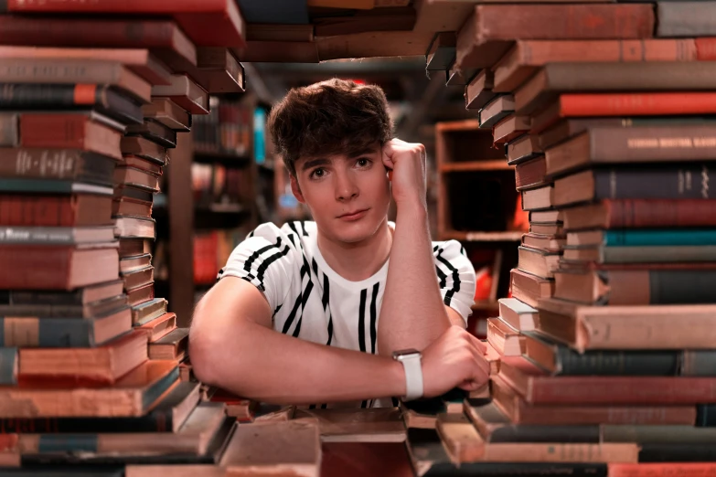
<path fill-rule="evenodd" d="M 0 195 L 0 224 L 16 227 L 71 227 L 72 200 L 62 196 Z"/>

